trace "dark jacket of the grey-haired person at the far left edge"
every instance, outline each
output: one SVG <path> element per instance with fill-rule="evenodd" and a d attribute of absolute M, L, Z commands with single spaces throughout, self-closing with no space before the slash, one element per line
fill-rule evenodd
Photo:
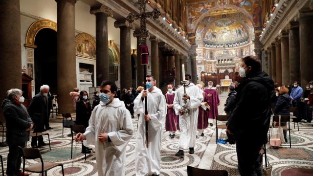
<path fill-rule="evenodd" d="M 4 99 L 2 102 L 6 125 L 6 143 L 20 144 L 29 140 L 29 131 L 25 130 L 33 123 L 24 105 Z"/>

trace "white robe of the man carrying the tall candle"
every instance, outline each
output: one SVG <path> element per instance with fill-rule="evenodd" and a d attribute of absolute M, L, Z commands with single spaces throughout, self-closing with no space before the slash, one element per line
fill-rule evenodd
<path fill-rule="evenodd" d="M 189 149 L 196 146 L 196 135 L 198 125 L 199 106 L 203 99 L 202 90 L 190 83 L 186 87 L 186 93 L 189 95 L 190 100 L 187 100 L 187 105 L 190 112 L 188 114 L 180 115 L 179 109 L 182 109 L 184 88 L 180 87 L 176 90 L 174 98 L 174 109 L 179 115 L 179 150 Z"/>

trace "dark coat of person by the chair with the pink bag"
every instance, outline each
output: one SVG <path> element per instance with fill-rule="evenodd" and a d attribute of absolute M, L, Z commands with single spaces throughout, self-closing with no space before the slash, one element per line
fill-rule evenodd
<path fill-rule="evenodd" d="M 290 115 L 290 96 L 285 93 L 282 95 L 279 95 L 276 106 L 273 110 L 275 115 Z"/>

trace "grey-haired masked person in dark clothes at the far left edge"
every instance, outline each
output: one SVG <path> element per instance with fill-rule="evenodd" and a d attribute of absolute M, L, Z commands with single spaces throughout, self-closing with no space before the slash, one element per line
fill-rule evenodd
<path fill-rule="evenodd" d="M 22 154 L 18 146 L 25 147 L 25 142 L 29 140 L 29 131 L 34 127 L 26 108 L 22 105 L 23 102 L 22 90 L 18 88 L 8 90 L 7 98 L 2 102 L 6 122 L 6 143 L 9 145 L 7 176 L 22 176 L 20 171 Z M 28 176 L 28 173 L 24 173 L 24 176 Z"/>

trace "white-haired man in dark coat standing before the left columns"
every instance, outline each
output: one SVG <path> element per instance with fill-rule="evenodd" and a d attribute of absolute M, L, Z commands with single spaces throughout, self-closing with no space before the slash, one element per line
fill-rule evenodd
<path fill-rule="evenodd" d="M 28 107 L 28 112 L 35 124 L 34 132 L 45 131 L 45 120 L 48 118 L 48 92 L 49 86 L 43 85 L 40 87 L 40 92 L 36 94 Z M 38 144 L 37 144 L 38 140 Z M 43 136 L 32 137 L 31 147 L 41 148 L 42 146 L 48 145 L 44 142 Z"/>

